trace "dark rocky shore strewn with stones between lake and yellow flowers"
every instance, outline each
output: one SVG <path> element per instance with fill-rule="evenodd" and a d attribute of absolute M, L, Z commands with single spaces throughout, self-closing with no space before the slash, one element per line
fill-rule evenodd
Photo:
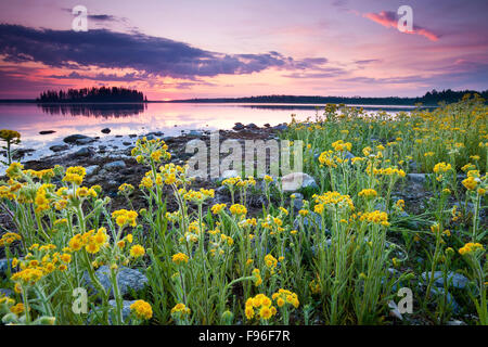
<path fill-rule="evenodd" d="M 266 125 L 258 127 L 255 124 L 243 125 L 236 123 L 232 130 L 219 130 L 220 142 L 228 139 L 234 139 L 244 143 L 245 140 L 271 140 L 278 139 L 278 132 L 285 130 L 287 126 L 281 124 L 274 127 Z M 110 129 L 102 129 L 103 133 L 110 133 Z M 55 165 L 63 167 L 82 166 L 86 168 L 87 176 L 85 184 L 99 184 L 102 187 L 105 195 L 113 198 L 113 204 L 124 205 L 121 196 L 117 195 L 117 189 L 123 183 L 130 183 L 139 187 L 139 183 L 147 171 L 147 168 L 138 164 L 130 152 L 136 145 L 139 138 L 162 139 L 171 153 L 169 163 L 175 165 L 183 165 L 193 154 L 185 153 L 187 143 L 191 140 L 203 140 L 209 144 L 210 131 L 208 130 L 190 130 L 182 131 L 180 136 L 167 137 L 162 131 L 153 131 L 145 134 L 115 136 L 113 143 L 111 141 L 102 141 L 100 137 L 87 137 L 84 134 L 72 134 L 63 139 L 64 144 L 50 146 L 51 154 L 41 158 L 30 159 L 29 153 L 34 150 L 17 151 L 16 160 L 21 160 L 25 169 L 47 169 Z M 224 172 L 231 175 L 232 172 Z M 0 177 L 4 179 L 5 177 Z M 215 188 L 218 185 L 211 180 L 196 180 L 196 187 Z M 168 192 L 169 193 L 169 192 Z M 168 194 L 170 195 L 170 194 Z M 134 207 L 142 204 L 142 196 L 134 191 L 132 203 Z"/>

